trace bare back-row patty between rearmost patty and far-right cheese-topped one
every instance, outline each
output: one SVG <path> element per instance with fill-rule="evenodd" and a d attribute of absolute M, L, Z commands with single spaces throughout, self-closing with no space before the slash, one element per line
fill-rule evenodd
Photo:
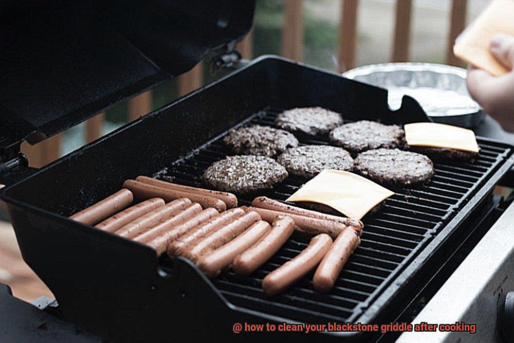
<path fill-rule="evenodd" d="M 401 147 L 405 132 L 398 125 L 360 120 L 335 128 L 329 138 L 335 145 L 358 154 L 372 149 Z"/>

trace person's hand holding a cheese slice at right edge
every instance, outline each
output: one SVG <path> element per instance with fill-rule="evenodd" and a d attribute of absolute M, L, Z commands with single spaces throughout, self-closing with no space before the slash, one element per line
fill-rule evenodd
<path fill-rule="evenodd" d="M 509 73 L 494 77 L 482 69 L 471 67 L 466 84 L 469 94 L 502 127 L 514 132 L 514 36 L 495 34 L 490 43 L 492 55 Z"/>

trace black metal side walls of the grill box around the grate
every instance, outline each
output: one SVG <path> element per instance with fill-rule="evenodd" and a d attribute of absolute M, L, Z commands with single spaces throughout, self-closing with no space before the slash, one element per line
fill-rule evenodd
<path fill-rule="evenodd" d="M 0 198 L 7 204 L 24 260 L 57 297 L 66 320 L 102 337 L 126 341 L 167 340 L 178 331 L 205 341 L 230 337 L 236 321 L 281 320 L 234 306 L 189 260 L 177 258 L 164 266 L 148 246 L 67 219 L 118 190 L 125 179 L 151 175 L 194 154 L 270 105 L 323 105 L 350 120 L 427 120 L 410 97 L 403 98 L 399 110 L 391 111 L 384 89 L 263 56 L 41 170 L 13 171 Z M 453 227 L 446 225 L 444 230 L 453 230 L 480 206 L 513 163 L 512 156 L 503 160 L 467 198 L 451 222 Z M 420 256 L 416 258 L 423 262 Z M 398 303 L 391 290 L 389 299 Z M 382 312 L 375 306 L 366 309 L 370 320 Z"/>

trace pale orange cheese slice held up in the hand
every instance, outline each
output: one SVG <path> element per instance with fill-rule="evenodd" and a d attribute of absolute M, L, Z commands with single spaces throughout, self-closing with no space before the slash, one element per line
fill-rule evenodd
<path fill-rule="evenodd" d="M 514 1 L 494 0 L 457 38 L 453 53 L 466 63 L 494 76 L 508 73 L 489 51 L 495 33 L 514 35 Z"/>

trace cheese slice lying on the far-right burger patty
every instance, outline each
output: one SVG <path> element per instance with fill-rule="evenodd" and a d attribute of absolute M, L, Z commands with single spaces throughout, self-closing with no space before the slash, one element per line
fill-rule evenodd
<path fill-rule="evenodd" d="M 403 125 L 405 140 L 413 147 L 448 148 L 479 152 L 475 133 L 471 130 L 439 123 L 411 123 Z"/>

